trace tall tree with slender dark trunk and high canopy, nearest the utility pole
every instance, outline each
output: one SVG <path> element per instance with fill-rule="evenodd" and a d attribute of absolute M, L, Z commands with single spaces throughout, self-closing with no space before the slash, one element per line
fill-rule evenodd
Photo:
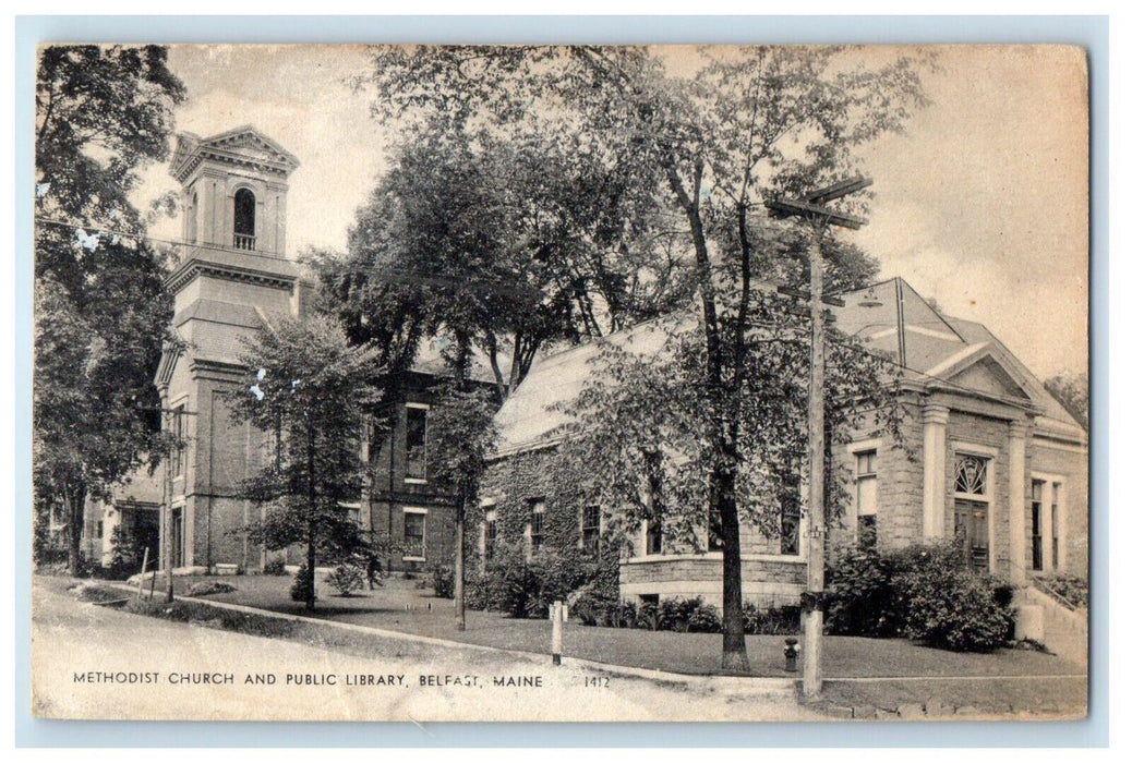
<path fill-rule="evenodd" d="M 728 671 L 748 670 L 737 481 L 751 437 L 744 393 L 758 341 L 758 286 L 766 274 L 805 283 L 800 258 L 782 258 L 804 251 L 796 247 L 803 233 L 767 221 L 763 200 L 857 171 L 856 149 L 899 131 L 926 103 L 923 63 L 899 53 L 863 63 L 835 46 L 685 49 L 679 55 L 643 48 L 414 46 L 376 49 L 361 83 L 381 96 L 375 110 L 397 115 L 410 130 L 440 120 L 456 131 L 488 126 L 514 135 L 529 114 L 548 115 L 544 132 L 563 142 L 582 135 L 580 153 L 600 146 L 658 180 L 653 198 L 662 199 L 664 218 L 678 221 L 700 314 L 701 348 L 691 355 L 694 389 L 703 396 L 700 478 L 720 517 Z M 827 240 L 826 252 L 831 263 L 860 260 Z"/>

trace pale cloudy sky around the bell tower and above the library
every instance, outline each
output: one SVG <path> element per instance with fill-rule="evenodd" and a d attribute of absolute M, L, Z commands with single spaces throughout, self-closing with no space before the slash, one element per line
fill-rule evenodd
<path fill-rule="evenodd" d="M 931 104 L 863 152 L 869 223 L 849 235 L 950 315 L 985 324 L 1039 378 L 1088 369 L 1088 92 L 1070 48 L 937 49 Z M 177 129 L 252 125 L 292 154 L 288 248 L 342 249 L 393 137 L 349 84 L 365 49 L 177 45 Z M 139 205 L 177 190 L 146 169 Z M 154 237 L 177 239 L 162 220 Z"/>

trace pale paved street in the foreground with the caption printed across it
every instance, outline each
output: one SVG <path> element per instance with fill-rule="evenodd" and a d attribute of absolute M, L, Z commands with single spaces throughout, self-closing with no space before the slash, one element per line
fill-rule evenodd
<path fill-rule="evenodd" d="M 33 706 L 50 718 L 817 718 L 781 693 L 606 676 L 483 650 L 405 650 L 403 642 L 389 641 L 379 654 L 365 659 L 83 603 L 42 580 L 33 584 L 32 642 Z"/>

